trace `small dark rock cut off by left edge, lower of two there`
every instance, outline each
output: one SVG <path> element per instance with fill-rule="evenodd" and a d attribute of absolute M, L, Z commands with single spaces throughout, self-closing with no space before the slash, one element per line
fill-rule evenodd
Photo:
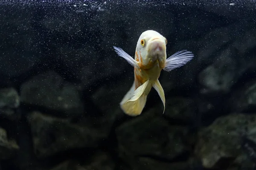
<path fill-rule="evenodd" d="M 9 159 L 17 153 L 19 146 L 7 138 L 6 130 L 0 128 L 0 159 Z"/>

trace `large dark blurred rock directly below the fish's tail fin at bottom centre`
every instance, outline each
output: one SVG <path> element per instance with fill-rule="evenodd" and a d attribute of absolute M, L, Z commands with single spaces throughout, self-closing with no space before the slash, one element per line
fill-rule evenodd
<path fill-rule="evenodd" d="M 159 133 L 161 132 L 161 133 Z M 116 129 L 121 156 L 152 156 L 172 160 L 189 150 L 185 136 L 188 129 L 172 126 L 154 113 L 125 122 Z"/>

